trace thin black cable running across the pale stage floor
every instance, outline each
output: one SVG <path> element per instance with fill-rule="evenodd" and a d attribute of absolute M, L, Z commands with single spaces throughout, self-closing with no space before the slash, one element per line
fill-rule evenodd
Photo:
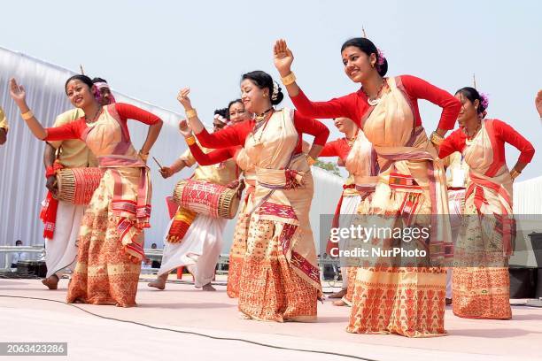
<path fill-rule="evenodd" d="M 0 297 L 23 298 L 23 299 L 28 299 L 28 300 L 39 300 L 39 301 L 48 301 L 48 302 L 54 302 L 54 303 L 62 303 L 64 305 L 72 306 L 72 307 L 74 307 L 74 308 L 76 308 L 78 310 L 89 313 L 90 315 L 96 316 L 96 317 L 98 317 L 100 319 L 110 319 L 110 320 L 113 320 L 113 321 L 134 324 L 134 325 L 137 325 L 137 326 L 149 327 L 149 328 L 154 329 L 154 330 L 175 332 L 177 334 L 193 334 L 193 335 L 196 335 L 196 336 L 207 337 L 207 338 L 210 338 L 210 339 L 213 339 L 213 340 L 245 342 L 245 343 L 251 343 L 251 344 L 257 345 L 257 346 L 267 347 L 267 348 L 270 348 L 270 349 L 285 349 L 285 350 L 290 350 L 290 351 L 310 352 L 310 353 L 317 353 L 317 354 L 322 354 L 322 355 L 331 355 L 331 356 L 338 356 L 338 357 L 349 357 L 349 358 L 354 358 L 354 359 L 363 360 L 363 361 L 377 361 L 377 360 L 375 360 L 373 358 L 365 358 L 365 357 L 358 357 L 358 356 L 353 356 L 353 355 L 345 355 L 345 354 L 340 354 L 340 353 L 337 353 L 337 352 L 318 351 L 316 349 L 293 349 L 293 348 L 289 348 L 289 347 L 270 345 L 270 344 L 267 344 L 267 343 L 255 342 L 255 341 L 245 340 L 245 339 L 241 339 L 241 338 L 219 337 L 219 336 L 213 336 L 211 334 L 200 334 L 200 333 L 191 332 L 191 331 L 181 331 L 181 330 L 174 330 L 172 328 L 151 326 L 151 325 L 147 325 L 147 324 L 144 324 L 144 323 L 141 323 L 141 322 L 129 321 L 129 320 L 126 320 L 126 319 L 115 319 L 115 318 L 112 318 L 112 317 L 106 317 L 106 316 L 98 315 L 97 313 L 93 313 L 93 312 L 87 311 L 85 309 L 82 309 L 81 307 L 79 307 L 79 306 L 77 306 L 77 305 L 75 305 L 73 303 L 65 303 L 65 302 L 58 301 L 58 300 L 51 300 L 49 298 L 27 297 L 27 296 L 8 296 L 8 295 L 0 295 Z"/>

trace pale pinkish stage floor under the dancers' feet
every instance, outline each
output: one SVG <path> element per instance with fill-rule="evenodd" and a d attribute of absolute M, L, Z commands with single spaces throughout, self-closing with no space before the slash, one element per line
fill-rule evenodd
<path fill-rule="evenodd" d="M 67 280 L 58 290 L 40 280 L 0 280 L 0 342 L 68 342 L 69 360 L 542 360 L 542 309 L 513 306 L 512 320 L 460 319 L 447 307 L 443 337 L 408 339 L 398 335 L 348 334 L 350 309 L 330 300 L 318 305 L 317 323 L 275 323 L 240 319 L 236 300 L 226 295 L 219 279 L 216 292 L 190 283 L 168 283 L 165 291 L 139 283 L 138 307 L 64 303 Z M 35 299 L 59 301 L 57 303 Z M 517 300 L 514 300 L 516 302 Z M 517 301 L 521 302 L 521 301 Z M 114 318 L 139 324 L 120 322 Z M 169 330 L 152 327 L 168 328 Z M 228 337 L 291 349 L 275 349 Z M 347 357 L 352 356 L 352 357 Z M 1 357 L 2 359 L 7 357 Z M 35 357 L 11 358 L 17 360 Z"/>

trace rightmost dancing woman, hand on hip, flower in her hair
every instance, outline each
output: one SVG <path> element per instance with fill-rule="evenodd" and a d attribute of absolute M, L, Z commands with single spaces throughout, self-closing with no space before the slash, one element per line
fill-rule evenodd
<path fill-rule="evenodd" d="M 438 155 L 460 151 L 469 167 L 464 219 L 453 255 L 453 313 L 468 319 L 510 319 L 507 258 L 513 252 L 515 221 L 512 182 L 534 156 L 523 135 L 499 119 L 484 119 L 486 96 L 461 88 L 460 128 L 448 136 Z M 508 171 L 505 143 L 521 154 Z M 482 217 L 480 217 L 482 216 Z"/>

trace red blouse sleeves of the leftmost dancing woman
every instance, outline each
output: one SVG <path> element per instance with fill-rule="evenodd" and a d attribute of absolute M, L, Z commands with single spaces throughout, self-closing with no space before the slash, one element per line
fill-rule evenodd
<path fill-rule="evenodd" d="M 143 111 L 143 109 L 131 104 L 116 103 L 109 106 L 114 106 L 117 113 L 119 113 L 120 127 L 122 127 L 124 134 L 127 134 L 128 142 L 130 140 L 127 124 L 128 119 L 139 120 L 142 123 L 148 125 L 153 125 L 161 121 L 159 117 L 152 114 L 151 112 Z M 66 139 L 81 139 L 82 134 L 87 128 L 88 126 L 84 118 L 77 119 L 71 123 L 65 124 L 60 127 L 49 127 L 45 129 L 47 131 L 47 136 L 43 138 L 43 141 L 65 141 Z"/>

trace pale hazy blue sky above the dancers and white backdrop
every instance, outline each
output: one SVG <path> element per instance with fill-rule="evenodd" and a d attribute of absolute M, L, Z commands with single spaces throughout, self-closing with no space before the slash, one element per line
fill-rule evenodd
<path fill-rule="evenodd" d="M 2 4 L 0 46 L 105 78 L 128 96 L 182 112 L 190 87 L 200 118 L 240 95 L 243 73 L 278 80 L 272 47 L 284 38 L 298 84 L 313 100 L 358 89 L 343 70 L 340 47 L 360 36 L 388 59 L 388 75 L 412 74 L 453 93 L 488 94 L 488 118 L 506 121 L 542 148 L 534 97 L 542 88 L 542 2 L 317 1 L 257 2 L 96 0 Z M 291 106 L 286 96 L 282 106 Z M 440 109 L 421 101 L 430 134 Z M 333 128 L 330 120 L 325 120 Z M 330 140 L 340 134 L 333 129 Z M 512 167 L 518 152 L 507 147 Z M 542 175 L 542 151 L 519 180 Z"/>

